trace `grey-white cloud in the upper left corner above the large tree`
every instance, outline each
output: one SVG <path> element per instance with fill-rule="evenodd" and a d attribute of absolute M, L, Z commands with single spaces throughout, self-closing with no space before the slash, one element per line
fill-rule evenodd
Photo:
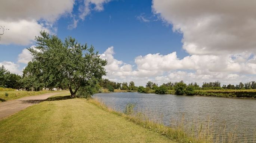
<path fill-rule="evenodd" d="M 40 30 L 56 32 L 54 24 L 61 16 L 73 17 L 68 29 L 77 27 L 79 19 L 92 10 L 102 11 L 103 4 L 110 0 L 5 0 L 0 4 L 0 25 L 10 29 L 1 37 L 0 44 L 29 45 L 39 35 Z M 80 2 L 82 4 L 80 4 Z M 79 19 L 75 17 L 73 6 L 79 5 Z"/>

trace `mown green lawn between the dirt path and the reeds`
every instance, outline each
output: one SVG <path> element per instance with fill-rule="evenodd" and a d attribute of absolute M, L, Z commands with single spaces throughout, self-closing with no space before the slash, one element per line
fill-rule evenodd
<path fill-rule="evenodd" d="M 68 95 L 63 93 L 61 95 Z M 65 97 L 64 99 L 68 98 Z M 86 99 L 44 101 L 0 120 L 1 143 L 172 143 Z"/>

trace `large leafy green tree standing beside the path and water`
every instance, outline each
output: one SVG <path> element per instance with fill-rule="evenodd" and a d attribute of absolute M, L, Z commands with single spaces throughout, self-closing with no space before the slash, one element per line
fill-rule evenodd
<path fill-rule="evenodd" d="M 80 87 L 96 84 L 106 74 L 107 61 L 94 52 L 93 46 L 88 48 L 71 37 L 62 42 L 45 31 L 36 41 L 37 46 L 28 49 L 33 59 L 24 71 L 44 87 L 68 87 L 74 98 Z"/>

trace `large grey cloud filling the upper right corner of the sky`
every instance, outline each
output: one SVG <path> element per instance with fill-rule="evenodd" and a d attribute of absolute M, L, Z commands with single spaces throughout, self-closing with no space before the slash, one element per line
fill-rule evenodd
<path fill-rule="evenodd" d="M 256 52 L 256 1 L 153 0 L 152 10 L 183 33 L 190 54 Z"/>

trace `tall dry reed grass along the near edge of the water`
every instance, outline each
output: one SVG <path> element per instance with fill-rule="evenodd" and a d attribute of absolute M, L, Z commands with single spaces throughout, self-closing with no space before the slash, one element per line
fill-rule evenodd
<path fill-rule="evenodd" d="M 105 111 L 123 116 L 135 124 L 179 143 L 256 143 L 256 131 L 254 131 L 253 137 L 247 137 L 246 131 L 243 137 L 239 137 L 236 128 L 232 131 L 226 130 L 225 122 L 223 122 L 223 126 L 215 126 L 215 120 L 211 120 L 210 117 L 202 121 L 188 121 L 182 115 L 179 120 L 171 119 L 170 126 L 164 126 L 163 115 L 152 114 L 150 111 L 130 111 L 134 108 L 132 104 L 127 105 L 130 114 L 124 114 L 107 107 L 96 98 L 88 101 Z"/>

